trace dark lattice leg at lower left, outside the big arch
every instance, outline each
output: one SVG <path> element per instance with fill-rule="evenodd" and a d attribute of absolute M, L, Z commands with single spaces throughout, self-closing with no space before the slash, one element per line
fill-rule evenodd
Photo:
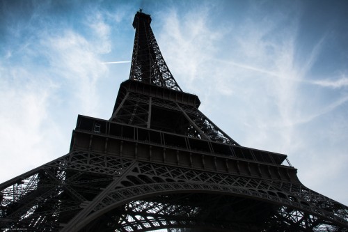
<path fill-rule="evenodd" d="M 74 152 L 9 180 L 0 185 L 0 227 L 58 231 L 131 163 Z"/>

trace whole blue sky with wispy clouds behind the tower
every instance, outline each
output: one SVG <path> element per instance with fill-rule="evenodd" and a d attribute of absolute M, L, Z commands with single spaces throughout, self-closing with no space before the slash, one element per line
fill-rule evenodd
<path fill-rule="evenodd" d="M 348 205 L 343 0 L 0 0 L 0 183 L 67 154 L 78 114 L 111 117 L 139 8 L 203 114 Z"/>

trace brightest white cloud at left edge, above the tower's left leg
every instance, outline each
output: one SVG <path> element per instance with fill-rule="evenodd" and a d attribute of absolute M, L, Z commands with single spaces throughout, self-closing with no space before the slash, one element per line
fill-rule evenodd
<path fill-rule="evenodd" d="M 52 160 L 52 150 L 67 150 L 59 147 L 61 133 L 47 111 L 56 86 L 35 79 L 31 70 L 12 68 L 0 69 L 1 182 Z"/>

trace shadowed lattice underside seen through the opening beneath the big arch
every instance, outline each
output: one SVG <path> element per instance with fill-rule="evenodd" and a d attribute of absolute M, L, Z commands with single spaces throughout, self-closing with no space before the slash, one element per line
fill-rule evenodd
<path fill-rule="evenodd" d="M 264 208 L 260 210 L 262 207 Z M 131 201 L 108 214 L 118 215 L 113 217 L 112 227 L 116 231 L 180 228 L 260 231 L 259 226 L 264 217 L 262 213 L 268 210 L 267 203 L 256 203 L 250 199 L 188 193 Z M 93 223 L 88 228 L 93 228 L 92 225 Z"/>

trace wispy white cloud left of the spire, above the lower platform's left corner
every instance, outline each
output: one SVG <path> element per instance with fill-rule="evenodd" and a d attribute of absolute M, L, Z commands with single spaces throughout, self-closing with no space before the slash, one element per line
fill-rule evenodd
<path fill-rule="evenodd" d="M 106 75 L 97 53 L 98 47 L 74 31 L 64 31 L 61 36 L 49 36 L 42 40 L 47 49 L 52 75 L 66 79 L 62 88 L 68 88 L 72 99 L 77 98 L 79 108 L 84 114 L 91 114 L 98 106 L 98 93 L 95 92 L 97 80 Z M 69 100 L 69 102 L 75 102 Z M 71 105 L 70 107 L 74 108 Z"/>

